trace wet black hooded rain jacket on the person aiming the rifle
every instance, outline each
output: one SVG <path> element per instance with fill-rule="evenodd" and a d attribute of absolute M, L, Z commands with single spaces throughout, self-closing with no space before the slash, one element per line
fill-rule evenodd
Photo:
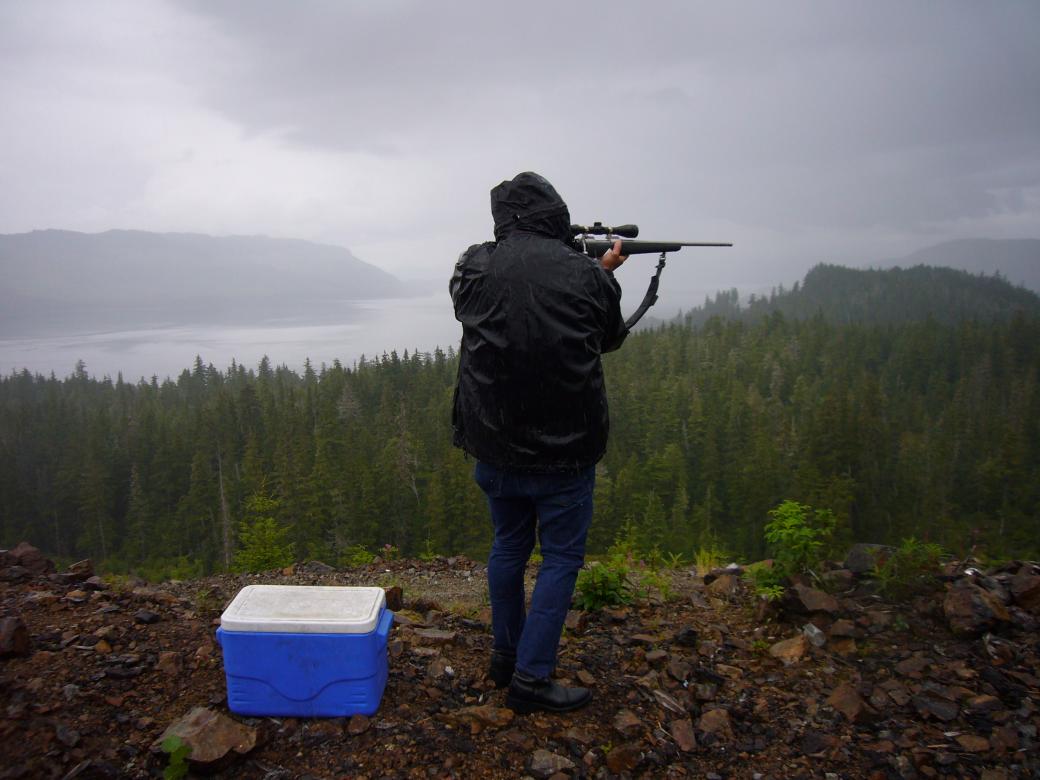
<path fill-rule="evenodd" d="M 572 249 L 567 205 L 542 177 L 502 182 L 491 207 L 496 240 L 466 250 L 450 283 L 454 443 L 500 469 L 576 471 L 606 449 L 600 355 L 627 335 L 621 288 Z"/>

